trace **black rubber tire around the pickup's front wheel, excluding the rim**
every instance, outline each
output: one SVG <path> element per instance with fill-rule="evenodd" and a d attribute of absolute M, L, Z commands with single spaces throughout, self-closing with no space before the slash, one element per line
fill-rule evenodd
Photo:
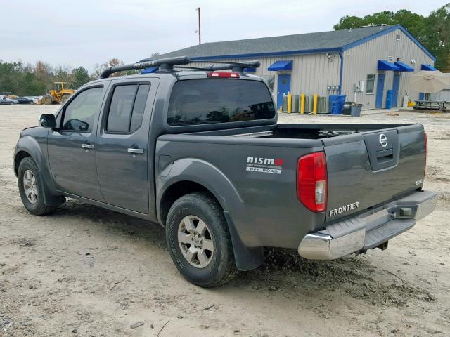
<path fill-rule="evenodd" d="M 37 182 L 37 200 L 32 203 L 27 198 L 25 193 L 25 186 L 23 184 L 24 175 L 26 171 L 32 171 L 34 178 Z M 39 170 L 37 169 L 37 165 L 31 157 L 25 157 L 20 161 L 19 169 L 18 169 L 18 186 L 20 192 L 20 198 L 22 199 L 23 206 L 30 213 L 35 216 L 44 216 L 45 214 L 51 213 L 56 209 L 56 206 L 46 206 L 44 204 L 44 187 L 43 182 L 41 180 L 41 176 L 39 175 Z"/>

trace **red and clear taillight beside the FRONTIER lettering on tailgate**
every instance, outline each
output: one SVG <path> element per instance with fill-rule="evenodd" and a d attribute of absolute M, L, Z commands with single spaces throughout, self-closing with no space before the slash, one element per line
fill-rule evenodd
<path fill-rule="evenodd" d="M 297 197 L 310 211 L 326 210 L 327 175 L 324 152 L 300 157 L 297 162 Z"/>

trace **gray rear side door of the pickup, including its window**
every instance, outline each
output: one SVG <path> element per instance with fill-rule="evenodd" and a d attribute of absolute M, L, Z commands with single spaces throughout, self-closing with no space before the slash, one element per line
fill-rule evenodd
<path fill-rule="evenodd" d="M 148 139 L 159 79 L 110 86 L 97 134 L 97 172 L 108 204 L 148 213 L 153 186 L 153 158 Z"/>

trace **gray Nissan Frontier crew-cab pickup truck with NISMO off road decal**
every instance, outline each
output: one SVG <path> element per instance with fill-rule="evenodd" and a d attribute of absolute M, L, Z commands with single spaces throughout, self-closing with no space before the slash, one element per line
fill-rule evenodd
<path fill-rule="evenodd" d="M 278 124 L 259 62 L 188 58 L 111 67 L 20 133 L 23 204 L 73 198 L 165 227 L 179 272 L 217 286 L 264 246 L 335 259 L 387 242 L 435 209 L 420 124 Z M 157 72 L 109 77 L 127 69 Z M 219 70 L 232 70 L 224 72 Z"/>

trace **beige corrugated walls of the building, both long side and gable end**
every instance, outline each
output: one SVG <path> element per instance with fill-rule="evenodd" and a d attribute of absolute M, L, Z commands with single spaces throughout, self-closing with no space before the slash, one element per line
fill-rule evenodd
<path fill-rule="evenodd" d="M 397 41 L 397 34 L 401 34 L 401 38 Z M 400 58 L 401 62 L 406 65 L 411 65 L 411 59 L 416 60 L 416 65 L 411 65 L 416 71 L 420 70 L 420 65 L 433 65 L 432 59 L 423 52 L 409 37 L 396 29 L 392 32 L 384 34 L 376 39 L 369 40 L 364 44 L 350 48 L 344 51 L 344 67 L 342 76 L 342 93 L 347 95 L 347 100 L 356 100 L 363 104 L 363 109 L 375 108 L 376 84 L 377 84 L 377 66 L 378 60 L 388 60 L 392 56 L 393 60 Z M 277 75 L 291 74 L 291 93 L 300 94 L 305 93 L 312 95 L 328 95 L 338 93 L 337 91 L 330 92 L 327 86 L 339 85 L 340 77 L 340 57 L 338 53 L 330 53 L 328 56 L 322 54 L 305 54 L 305 55 L 290 55 L 279 57 L 260 57 L 260 58 L 228 58 L 224 61 L 245 62 L 248 60 L 259 60 L 261 67 L 257 68 L 255 74 L 259 76 L 273 76 L 274 77 L 274 94 L 277 94 Z M 267 68 L 278 60 L 293 60 L 292 72 L 269 72 Z M 195 63 L 192 66 L 205 66 L 210 63 Z M 354 84 L 359 81 L 364 81 L 366 87 L 367 75 L 375 74 L 375 88 L 373 94 L 367 94 L 366 88 L 364 93 L 356 93 L 354 96 Z M 397 105 L 401 106 L 404 95 L 407 91 L 407 78 L 413 72 L 400 72 L 399 95 Z M 394 72 L 385 72 L 385 88 L 383 95 L 383 107 L 385 107 L 386 91 L 392 88 L 392 80 Z M 418 92 L 409 91 L 409 96 L 413 100 L 418 99 Z"/>

